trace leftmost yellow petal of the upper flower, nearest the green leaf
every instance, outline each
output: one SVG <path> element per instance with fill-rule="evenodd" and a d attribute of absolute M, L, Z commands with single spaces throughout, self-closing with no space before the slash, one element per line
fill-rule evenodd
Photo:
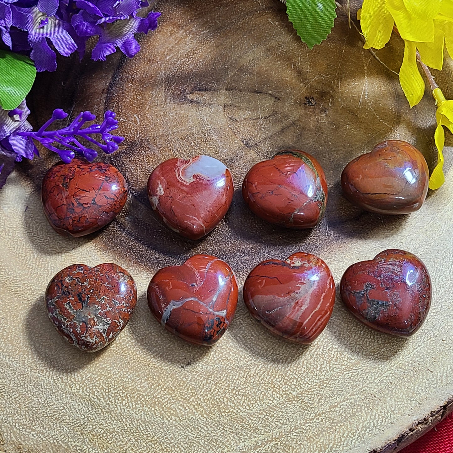
<path fill-rule="evenodd" d="M 386 8 L 386 0 L 363 0 L 360 25 L 365 36 L 365 48 L 383 48 L 393 30 L 393 17 Z"/>

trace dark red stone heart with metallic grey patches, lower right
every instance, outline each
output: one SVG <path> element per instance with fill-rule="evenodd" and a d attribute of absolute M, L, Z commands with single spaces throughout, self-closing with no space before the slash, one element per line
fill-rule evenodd
<path fill-rule="evenodd" d="M 431 280 L 415 255 L 389 249 L 373 260 L 350 266 L 342 276 L 340 294 L 362 323 L 381 332 L 409 337 L 428 314 Z"/>

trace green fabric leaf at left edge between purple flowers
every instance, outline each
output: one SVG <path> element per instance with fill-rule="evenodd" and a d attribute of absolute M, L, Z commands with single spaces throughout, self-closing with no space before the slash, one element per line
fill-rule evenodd
<path fill-rule="evenodd" d="M 13 110 L 25 99 L 36 77 L 30 58 L 0 50 L 0 106 Z"/>

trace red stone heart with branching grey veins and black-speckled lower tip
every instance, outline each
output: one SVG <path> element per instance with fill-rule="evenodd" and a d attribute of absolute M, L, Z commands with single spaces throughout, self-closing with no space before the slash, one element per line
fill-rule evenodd
<path fill-rule="evenodd" d="M 148 286 L 148 305 L 159 323 L 204 346 L 212 346 L 225 333 L 237 296 L 230 266 L 210 255 L 194 255 L 181 266 L 164 267 Z"/>

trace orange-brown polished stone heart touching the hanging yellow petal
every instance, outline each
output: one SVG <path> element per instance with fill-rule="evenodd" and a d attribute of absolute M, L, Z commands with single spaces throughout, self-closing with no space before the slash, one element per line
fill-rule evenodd
<path fill-rule="evenodd" d="M 423 154 L 402 140 L 387 140 L 347 164 L 341 175 L 345 197 L 379 214 L 408 214 L 428 193 L 429 170 Z"/>

